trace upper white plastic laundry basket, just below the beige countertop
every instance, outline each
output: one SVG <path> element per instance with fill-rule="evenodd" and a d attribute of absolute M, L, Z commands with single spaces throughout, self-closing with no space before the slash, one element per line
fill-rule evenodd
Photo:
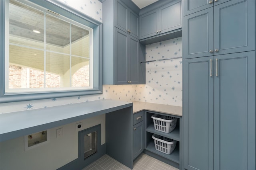
<path fill-rule="evenodd" d="M 154 128 L 157 131 L 170 133 L 175 129 L 178 118 L 166 115 L 154 114 L 151 116 L 154 121 Z"/>

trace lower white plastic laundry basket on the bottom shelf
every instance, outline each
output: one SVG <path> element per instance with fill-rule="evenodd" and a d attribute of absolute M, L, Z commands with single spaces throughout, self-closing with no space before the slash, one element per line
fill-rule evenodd
<path fill-rule="evenodd" d="M 173 139 L 156 134 L 152 135 L 152 138 L 154 139 L 156 150 L 165 154 L 171 154 L 176 147 L 177 141 Z"/>

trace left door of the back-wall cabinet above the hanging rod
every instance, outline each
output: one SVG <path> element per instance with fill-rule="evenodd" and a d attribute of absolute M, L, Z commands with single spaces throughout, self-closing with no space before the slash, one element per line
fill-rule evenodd
<path fill-rule="evenodd" d="M 140 16 L 140 39 L 158 34 L 159 11 L 158 9 Z"/>

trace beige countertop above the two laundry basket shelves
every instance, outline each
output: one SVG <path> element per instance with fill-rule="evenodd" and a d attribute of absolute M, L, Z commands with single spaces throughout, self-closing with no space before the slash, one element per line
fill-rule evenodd
<path fill-rule="evenodd" d="M 137 113 L 142 110 L 156 111 L 160 113 L 182 116 L 182 107 L 180 106 L 154 104 L 148 102 L 133 102 L 133 113 Z"/>

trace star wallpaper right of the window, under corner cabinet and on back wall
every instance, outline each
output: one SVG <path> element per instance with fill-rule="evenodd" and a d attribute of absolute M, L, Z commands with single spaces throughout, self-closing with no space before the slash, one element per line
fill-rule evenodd
<path fill-rule="evenodd" d="M 146 45 L 146 84 L 104 85 L 106 99 L 182 106 L 182 37 Z"/>

